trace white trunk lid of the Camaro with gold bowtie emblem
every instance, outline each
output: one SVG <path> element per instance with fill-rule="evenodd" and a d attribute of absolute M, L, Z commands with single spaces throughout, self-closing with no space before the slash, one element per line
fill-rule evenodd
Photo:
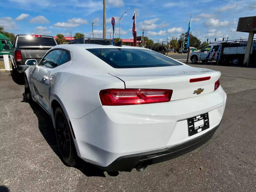
<path fill-rule="evenodd" d="M 110 75 L 124 81 L 125 88 L 171 89 L 171 100 L 180 100 L 214 91 L 220 72 L 188 65 L 152 68 L 111 68 Z M 210 77 L 208 80 L 190 79 Z M 195 92 L 196 91 L 196 92 Z M 200 93 L 199 93 L 200 92 Z"/>

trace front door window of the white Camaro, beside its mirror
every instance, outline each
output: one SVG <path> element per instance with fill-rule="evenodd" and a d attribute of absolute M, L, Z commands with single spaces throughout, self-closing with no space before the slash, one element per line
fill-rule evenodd
<path fill-rule="evenodd" d="M 60 53 L 62 52 L 62 50 L 53 50 L 51 52 L 49 52 L 44 59 L 42 60 L 41 63 L 39 63 L 38 65 L 44 66 L 44 67 L 49 67 L 49 68 L 55 68 L 57 67 L 57 61 L 60 57 Z"/>

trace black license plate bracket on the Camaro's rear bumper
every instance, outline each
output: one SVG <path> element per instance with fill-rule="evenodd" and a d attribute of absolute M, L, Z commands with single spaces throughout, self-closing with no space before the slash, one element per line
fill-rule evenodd
<path fill-rule="evenodd" d="M 195 135 L 196 133 L 204 131 L 205 129 L 208 129 L 210 127 L 208 113 L 188 118 L 187 121 L 188 136 Z"/>

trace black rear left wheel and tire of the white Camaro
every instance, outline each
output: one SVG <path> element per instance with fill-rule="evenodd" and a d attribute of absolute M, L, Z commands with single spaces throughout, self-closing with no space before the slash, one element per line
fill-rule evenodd
<path fill-rule="evenodd" d="M 54 115 L 55 132 L 58 147 L 63 161 L 69 166 L 76 165 L 76 147 L 70 132 L 68 120 L 60 107 L 57 107 Z"/>

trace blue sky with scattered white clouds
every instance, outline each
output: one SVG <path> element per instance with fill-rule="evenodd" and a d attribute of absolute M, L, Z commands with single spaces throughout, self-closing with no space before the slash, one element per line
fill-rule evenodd
<path fill-rule="evenodd" d="M 179 38 L 188 29 L 190 13 L 192 34 L 202 42 L 228 39 L 246 39 L 248 33 L 236 32 L 239 17 L 255 16 L 255 0 L 226 0 L 230 3 L 250 6 L 242 7 L 221 0 L 106 0 L 106 37 L 113 36 L 111 17 L 116 19 L 115 37 L 119 37 L 119 18 L 122 39 L 132 39 L 132 16 L 136 10 L 137 36 L 156 42 Z M 102 38 L 102 0 L 0 0 L 0 25 L 5 31 L 18 34 L 72 36 L 83 33 Z M 256 35 L 254 35 L 256 37 Z"/>

